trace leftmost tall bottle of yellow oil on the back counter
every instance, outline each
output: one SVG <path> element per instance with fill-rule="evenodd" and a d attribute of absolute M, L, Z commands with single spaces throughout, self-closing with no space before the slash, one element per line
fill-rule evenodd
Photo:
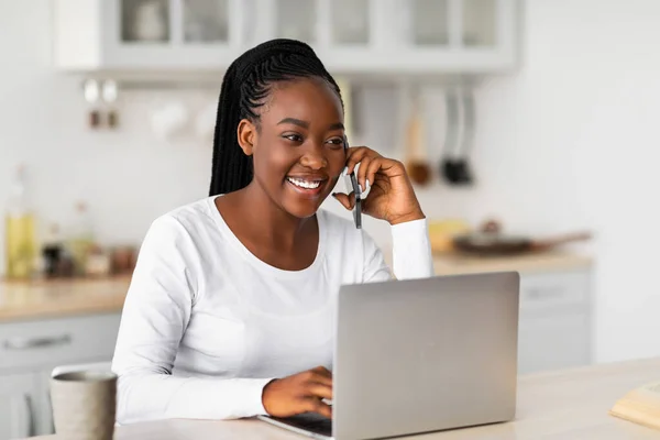
<path fill-rule="evenodd" d="M 29 279 L 36 271 L 37 244 L 35 219 L 26 197 L 25 166 L 20 164 L 10 183 L 6 212 L 6 276 L 8 279 Z"/>

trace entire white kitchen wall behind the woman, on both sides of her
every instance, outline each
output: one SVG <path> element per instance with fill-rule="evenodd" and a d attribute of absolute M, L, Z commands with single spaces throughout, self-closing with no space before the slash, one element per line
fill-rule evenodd
<path fill-rule="evenodd" d="M 124 96 L 120 131 L 88 131 L 78 80 L 50 67 L 50 14 L 47 0 L 0 1 L 0 200 L 11 164 L 25 160 L 44 219 L 66 222 L 86 199 L 103 242 L 139 241 L 153 218 L 206 196 L 209 143 L 155 140 L 148 112 L 172 96 L 154 91 Z M 520 72 L 477 91 L 477 187 L 419 190 L 431 217 L 496 215 L 508 230 L 538 233 L 593 227 L 600 361 L 660 355 L 659 21 L 656 0 L 527 1 Z M 217 99 L 178 95 L 197 109 Z M 440 114 L 441 90 L 428 98 Z M 377 99 L 385 95 L 372 94 L 366 139 L 396 153 L 396 103 Z M 437 119 L 429 114 L 435 158 Z M 386 226 L 367 228 L 388 244 Z"/>

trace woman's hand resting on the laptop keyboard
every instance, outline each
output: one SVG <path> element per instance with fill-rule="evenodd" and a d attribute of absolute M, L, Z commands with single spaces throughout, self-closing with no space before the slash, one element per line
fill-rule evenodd
<path fill-rule="evenodd" d="M 264 409 L 273 417 L 318 413 L 332 417 L 332 408 L 321 399 L 332 399 L 332 373 L 323 366 L 271 381 L 264 387 Z"/>

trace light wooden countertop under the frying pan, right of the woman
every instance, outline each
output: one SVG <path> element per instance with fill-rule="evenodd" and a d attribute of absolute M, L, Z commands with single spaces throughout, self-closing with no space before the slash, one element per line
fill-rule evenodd
<path fill-rule="evenodd" d="M 455 275 L 475 272 L 518 271 L 520 273 L 560 272 L 587 268 L 590 256 L 542 252 L 513 256 L 463 256 L 459 254 L 433 255 L 437 275 Z"/>

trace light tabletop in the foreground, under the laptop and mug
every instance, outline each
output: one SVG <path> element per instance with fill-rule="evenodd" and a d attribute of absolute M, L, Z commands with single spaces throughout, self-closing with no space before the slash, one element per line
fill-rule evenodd
<path fill-rule="evenodd" d="M 411 436 L 460 439 L 659 439 L 652 430 L 608 415 L 628 391 L 660 378 L 660 359 L 604 364 L 520 377 L 512 422 Z M 116 440 L 297 440 L 305 437 L 262 421 L 164 420 L 117 428 Z M 58 439 L 57 436 L 41 439 Z"/>

